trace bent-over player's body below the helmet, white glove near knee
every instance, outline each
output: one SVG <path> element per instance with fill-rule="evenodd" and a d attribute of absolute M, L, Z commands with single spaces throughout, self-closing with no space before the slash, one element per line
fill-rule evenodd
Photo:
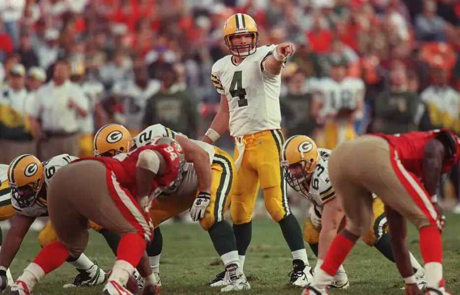
<path fill-rule="evenodd" d="M 158 226 L 161 222 L 189 209 L 192 219 L 199 221 L 202 228 L 209 233 L 225 265 L 228 284 L 222 288 L 222 291 L 250 289 L 239 266 L 232 228 L 223 218 L 230 203 L 229 196 L 234 183 L 233 160 L 220 148 L 190 140 L 185 135 L 161 124 L 149 126 L 141 131 L 133 138 L 131 149 L 148 145 L 158 137 L 176 140 L 184 149 L 186 163 L 182 168 L 182 175 L 157 196 L 150 210 L 155 231 L 147 253 L 157 281 L 159 282 L 159 258 L 162 248 L 162 236 Z M 101 137 L 100 140 L 103 139 L 104 137 Z M 110 148 L 109 145 L 106 147 Z M 101 150 L 99 147 L 99 153 L 103 154 L 105 149 Z"/>

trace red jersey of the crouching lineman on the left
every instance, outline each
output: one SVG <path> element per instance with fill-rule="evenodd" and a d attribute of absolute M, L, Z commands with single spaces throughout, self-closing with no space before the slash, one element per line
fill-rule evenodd
<path fill-rule="evenodd" d="M 136 190 L 136 164 L 139 154 L 146 149 L 159 152 L 166 161 L 166 169 L 161 176 L 155 177 L 150 191 L 157 190 L 171 185 L 179 177 L 181 168 L 180 157 L 175 147 L 171 145 L 147 145 L 136 148 L 128 153 L 121 153 L 113 158 L 110 157 L 86 157 L 74 160 L 72 163 L 95 160 L 103 163 L 108 170 L 107 181 L 112 182 L 112 174 L 115 175 L 118 183 L 126 189 L 132 196 L 135 196 Z"/>

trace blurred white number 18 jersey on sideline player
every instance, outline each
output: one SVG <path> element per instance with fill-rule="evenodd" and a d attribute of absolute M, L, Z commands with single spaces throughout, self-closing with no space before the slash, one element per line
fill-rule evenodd
<path fill-rule="evenodd" d="M 356 109 L 357 102 L 364 99 L 366 87 L 361 79 L 345 78 L 342 82 L 337 82 L 331 78 L 323 78 L 315 83 L 314 90 L 321 93 L 321 116 L 326 116 L 336 114 L 343 108 Z"/>

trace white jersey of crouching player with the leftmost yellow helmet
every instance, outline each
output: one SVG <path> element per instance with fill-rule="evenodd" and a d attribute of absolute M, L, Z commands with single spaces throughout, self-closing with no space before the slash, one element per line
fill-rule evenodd
<path fill-rule="evenodd" d="M 61 167 L 66 166 L 73 160 L 78 159 L 77 157 L 70 156 L 68 154 L 61 154 L 58 156 L 54 156 L 51 159 L 44 161 L 43 162 L 43 174 L 44 174 L 44 182 L 45 182 L 45 188 L 42 187 L 42 189 L 46 189 L 48 185 L 50 184 L 51 178 L 54 176 L 56 171 L 58 171 Z M 46 193 L 46 192 L 45 192 Z M 14 198 L 11 198 L 11 205 L 13 205 L 14 209 L 23 215 L 30 216 L 30 217 L 40 217 L 40 216 L 46 216 L 48 213 L 48 207 L 46 206 L 46 200 L 45 202 L 41 201 L 40 199 L 37 199 L 35 204 L 29 207 L 21 207 L 19 204 L 14 200 Z"/>

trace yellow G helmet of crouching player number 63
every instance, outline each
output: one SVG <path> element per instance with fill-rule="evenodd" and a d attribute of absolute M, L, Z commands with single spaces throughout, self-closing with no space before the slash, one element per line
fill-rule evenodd
<path fill-rule="evenodd" d="M 315 142 L 305 135 L 294 135 L 286 140 L 280 152 L 284 178 L 295 190 L 301 190 L 300 184 L 308 179 L 315 169 L 320 154 Z M 295 168 L 300 169 L 295 172 Z"/>

